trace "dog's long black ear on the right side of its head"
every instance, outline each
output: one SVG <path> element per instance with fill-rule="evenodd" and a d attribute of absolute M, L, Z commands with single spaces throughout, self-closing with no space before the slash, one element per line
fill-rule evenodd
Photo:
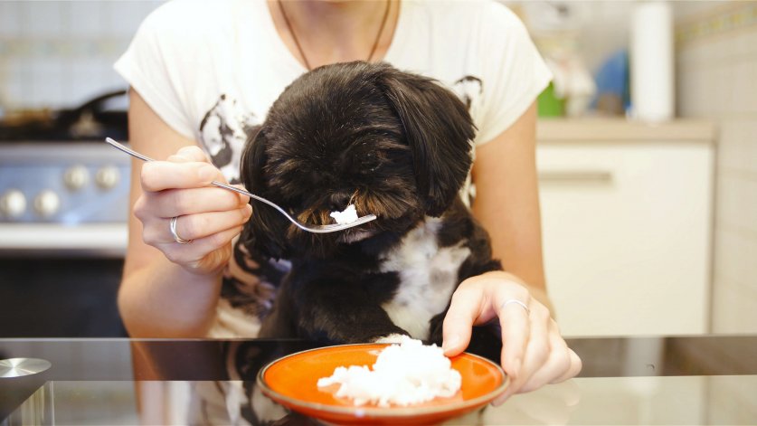
<path fill-rule="evenodd" d="M 462 101 L 436 80 L 387 67 L 380 85 L 402 121 L 426 213 L 440 216 L 468 176 L 475 135 Z"/>

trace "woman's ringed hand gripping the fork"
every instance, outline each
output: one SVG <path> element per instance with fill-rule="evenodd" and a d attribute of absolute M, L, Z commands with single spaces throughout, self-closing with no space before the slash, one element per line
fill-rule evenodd
<path fill-rule="evenodd" d="M 221 171 L 199 147 L 183 147 L 166 161 L 142 166 L 142 195 L 134 214 L 142 222 L 143 240 L 163 251 L 168 260 L 197 274 L 212 274 L 232 254 L 232 238 L 250 218 L 249 197 L 210 185 L 225 183 Z M 176 219 L 176 235 L 170 231 Z"/>

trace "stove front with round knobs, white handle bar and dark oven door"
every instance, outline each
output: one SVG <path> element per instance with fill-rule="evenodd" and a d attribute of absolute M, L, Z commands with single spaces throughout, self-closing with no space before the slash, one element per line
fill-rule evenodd
<path fill-rule="evenodd" d="M 104 142 L 0 145 L 0 337 L 126 336 L 128 175 Z"/>

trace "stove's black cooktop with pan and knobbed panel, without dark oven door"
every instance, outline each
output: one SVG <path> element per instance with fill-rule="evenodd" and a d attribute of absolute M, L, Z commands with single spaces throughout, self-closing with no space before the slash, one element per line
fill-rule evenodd
<path fill-rule="evenodd" d="M 130 159 L 104 137 L 127 137 L 125 96 L 0 121 L 0 256 L 123 255 Z"/>

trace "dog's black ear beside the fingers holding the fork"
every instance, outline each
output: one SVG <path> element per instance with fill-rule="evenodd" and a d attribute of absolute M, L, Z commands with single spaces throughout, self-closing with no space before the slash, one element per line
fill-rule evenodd
<path fill-rule="evenodd" d="M 241 153 L 241 182 L 252 194 L 268 197 L 268 185 L 264 178 L 268 162 L 266 147 L 269 145 L 263 128 L 254 128 Z M 264 256 L 282 259 L 287 255 L 284 233 L 289 222 L 273 210 L 273 207 L 251 200 L 252 214 L 241 232 L 241 243 L 249 251 Z"/>

